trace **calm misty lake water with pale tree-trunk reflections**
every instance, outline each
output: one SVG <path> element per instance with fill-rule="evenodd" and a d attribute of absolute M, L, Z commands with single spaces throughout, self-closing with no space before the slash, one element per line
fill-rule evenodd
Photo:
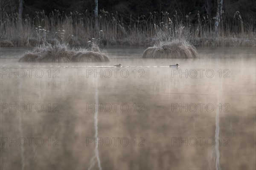
<path fill-rule="evenodd" d="M 1 48 L 0 168 L 254 169 L 255 47 L 198 47 L 196 59 L 144 49 L 19 63 L 29 48 Z"/>

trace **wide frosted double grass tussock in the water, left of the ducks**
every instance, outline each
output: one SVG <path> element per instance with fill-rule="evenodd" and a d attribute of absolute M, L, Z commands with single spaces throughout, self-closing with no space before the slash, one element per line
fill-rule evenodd
<path fill-rule="evenodd" d="M 92 48 L 93 47 L 93 48 Z M 109 56 L 93 43 L 91 49 L 74 49 L 65 43 L 44 44 L 21 56 L 19 62 L 107 62 Z M 94 50 L 97 51 L 94 51 Z"/>

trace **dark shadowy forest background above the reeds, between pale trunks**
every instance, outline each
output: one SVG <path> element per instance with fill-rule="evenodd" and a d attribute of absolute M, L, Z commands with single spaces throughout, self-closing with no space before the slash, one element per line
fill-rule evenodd
<path fill-rule="evenodd" d="M 23 15 L 32 16 L 37 11 L 44 10 L 49 14 L 55 9 L 70 14 L 78 11 L 93 15 L 94 0 L 25 0 L 23 3 Z M 1 9 L 7 13 L 18 12 L 19 0 L 1 0 Z M 99 10 L 118 12 L 124 18 L 130 20 L 149 12 L 169 12 L 185 18 L 190 12 L 197 20 L 197 14 L 202 17 L 212 18 L 216 15 L 217 0 L 99 0 Z M 246 21 L 249 16 L 256 16 L 256 0 L 223 0 L 225 17 L 232 18 L 236 11 Z"/>

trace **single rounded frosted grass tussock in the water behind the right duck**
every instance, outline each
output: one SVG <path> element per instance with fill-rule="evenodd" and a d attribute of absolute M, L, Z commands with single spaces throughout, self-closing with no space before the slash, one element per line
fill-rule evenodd
<path fill-rule="evenodd" d="M 197 58 L 195 46 L 186 40 L 172 40 L 148 47 L 142 58 Z"/>

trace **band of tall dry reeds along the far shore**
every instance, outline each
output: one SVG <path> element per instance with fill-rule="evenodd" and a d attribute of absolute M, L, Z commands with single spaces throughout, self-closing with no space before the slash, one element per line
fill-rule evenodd
<path fill-rule="evenodd" d="M 215 19 L 199 13 L 182 18 L 177 13 L 171 16 L 168 12 L 149 12 L 127 18 L 117 12 L 100 10 L 99 30 L 96 30 L 93 15 L 87 12 L 35 12 L 33 17 L 25 15 L 20 25 L 17 13 L 0 11 L 0 40 L 5 42 L 1 46 L 36 46 L 56 39 L 71 46 L 85 46 L 92 38 L 102 45 L 151 46 L 156 43 L 157 29 L 168 32 L 175 39 L 180 35 L 179 30 L 185 27 L 184 36 L 195 46 L 255 46 L 254 16 L 248 16 L 247 22 L 239 12 L 232 19 L 222 18 L 216 33 Z"/>

